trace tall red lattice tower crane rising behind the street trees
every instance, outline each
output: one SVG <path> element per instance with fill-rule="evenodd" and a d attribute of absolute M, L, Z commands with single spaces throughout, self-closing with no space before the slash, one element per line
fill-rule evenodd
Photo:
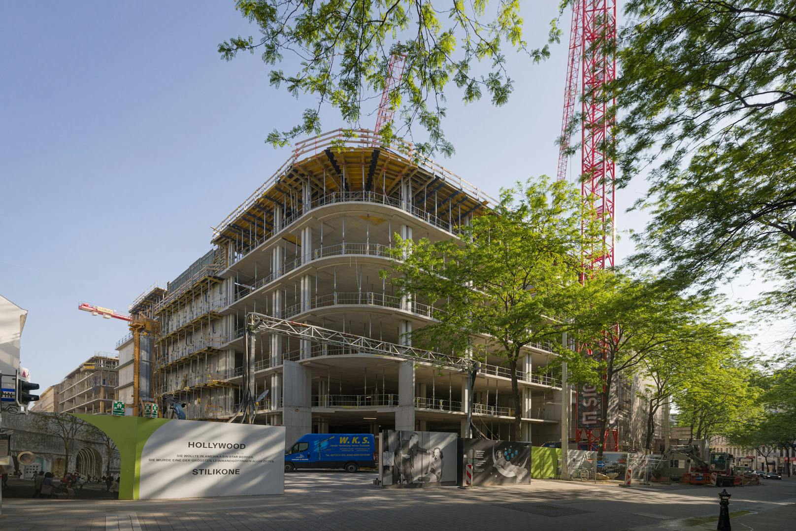
<path fill-rule="evenodd" d="M 615 264 L 615 162 L 611 158 L 615 100 L 607 97 L 606 90 L 616 77 L 616 56 L 612 51 L 616 39 L 616 1 L 574 0 L 570 31 L 557 177 L 565 179 L 567 176 L 569 135 L 580 81 L 580 193 L 583 200 L 594 207 L 595 221 L 602 228 L 601 237 L 592 242 L 583 261 L 588 268 L 599 270 Z M 591 351 L 587 354 L 592 355 Z M 578 408 L 581 392 L 578 389 Z M 580 412 L 577 418 L 576 440 L 579 443 L 581 437 L 585 438 L 591 450 L 600 439 L 599 428 L 593 428 L 591 424 L 594 423 L 587 427 Z M 613 435 L 611 449 L 618 451 L 618 430 L 606 431 L 603 439 L 606 443 L 609 432 Z"/>

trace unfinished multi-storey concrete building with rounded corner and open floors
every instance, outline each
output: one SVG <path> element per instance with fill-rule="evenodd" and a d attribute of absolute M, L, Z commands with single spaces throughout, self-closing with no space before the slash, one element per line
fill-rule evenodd
<path fill-rule="evenodd" d="M 417 160 L 411 145 L 380 146 L 371 135 L 347 139 L 333 131 L 296 144 L 291 158 L 217 226 L 213 248 L 169 283 L 165 296 L 154 297 L 146 312 L 160 322 L 156 395 L 177 396 L 189 418 L 232 416 L 250 311 L 405 345 L 412 330 L 431 322 L 437 301 L 401 299 L 380 278 L 394 235 L 455 237 L 457 226 L 494 200 L 435 162 Z M 128 345 L 117 347 L 120 361 Z M 522 438 L 536 443 L 560 439 L 560 381 L 537 375 L 552 355 L 550 345 L 530 346 L 518 373 Z M 256 393 L 269 393 L 258 422 L 286 426 L 288 445 L 308 432 L 465 425 L 464 376 L 422 361 L 271 334 L 258 342 L 255 369 Z M 120 381 L 121 398 L 129 379 Z M 494 354 L 474 387 L 473 416 L 482 431 L 508 437 L 510 375 Z"/>

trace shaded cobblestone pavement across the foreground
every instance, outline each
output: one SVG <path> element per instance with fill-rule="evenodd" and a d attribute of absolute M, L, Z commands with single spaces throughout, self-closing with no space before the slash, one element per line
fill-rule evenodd
<path fill-rule="evenodd" d="M 376 474 L 364 472 L 286 474 L 283 496 L 139 502 L 6 499 L 0 529 L 696 530 L 710 528 L 704 527 L 704 521 L 695 523 L 685 518 L 717 515 L 720 490 L 691 486 L 625 488 L 553 480 L 470 490 L 386 490 L 373 486 L 373 478 Z M 732 511 L 751 511 L 733 518 L 734 529 L 794 529 L 796 482 L 733 489 L 732 495 Z M 743 521 L 749 525 L 741 525 Z M 712 523 L 712 529 L 715 527 Z"/>

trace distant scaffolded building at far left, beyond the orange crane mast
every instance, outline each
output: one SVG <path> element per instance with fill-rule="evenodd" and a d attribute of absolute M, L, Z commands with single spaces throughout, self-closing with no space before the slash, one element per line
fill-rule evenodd
<path fill-rule="evenodd" d="M 119 358 L 115 355 L 94 353 L 55 385 L 54 411 L 110 414 L 118 385 L 118 366 Z"/>

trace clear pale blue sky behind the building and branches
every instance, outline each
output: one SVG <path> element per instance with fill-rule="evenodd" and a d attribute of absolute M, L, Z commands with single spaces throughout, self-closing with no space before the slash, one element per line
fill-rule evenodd
<path fill-rule="evenodd" d="M 556 3 L 525 7 L 532 45 Z M 22 361 L 45 388 L 127 334 L 78 302 L 127 311 L 208 251 L 211 226 L 287 158 L 267 133 L 312 101 L 271 88 L 258 56 L 220 60 L 220 41 L 256 34 L 232 2 L 3 2 L 0 33 L 0 293 L 29 310 Z M 505 107 L 451 95 L 444 128 L 457 154 L 443 166 L 493 196 L 555 174 L 566 53 L 510 56 Z M 325 130 L 344 125 L 323 118 Z M 618 211 L 644 189 L 619 192 Z M 618 214 L 620 230 L 642 221 Z M 620 261 L 629 250 L 625 238 Z"/>

